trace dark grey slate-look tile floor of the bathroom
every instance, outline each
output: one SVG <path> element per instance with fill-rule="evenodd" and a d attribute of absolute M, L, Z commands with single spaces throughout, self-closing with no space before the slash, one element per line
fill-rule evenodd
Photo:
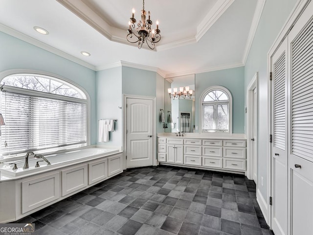
<path fill-rule="evenodd" d="M 129 169 L 18 222 L 37 235 L 273 235 L 241 175 Z"/>

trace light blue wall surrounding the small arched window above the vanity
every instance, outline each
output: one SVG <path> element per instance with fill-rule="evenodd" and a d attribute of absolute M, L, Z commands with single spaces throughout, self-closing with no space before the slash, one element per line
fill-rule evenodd
<path fill-rule="evenodd" d="M 233 133 L 244 133 L 245 118 L 245 68 L 219 70 L 198 73 L 195 76 L 195 125 L 200 123 L 200 97 L 211 86 L 223 86 L 229 90 L 233 98 Z M 201 126 L 199 126 L 200 130 Z M 196 132 L 199 132 L 199 130 Z"/>

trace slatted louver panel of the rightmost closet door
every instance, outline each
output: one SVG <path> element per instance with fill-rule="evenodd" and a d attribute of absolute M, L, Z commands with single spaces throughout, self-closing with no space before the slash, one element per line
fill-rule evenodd
<path fill-rule="evenodd" d="M 291 44 L 291 151 L 313 159 L 313 20 Z"/>

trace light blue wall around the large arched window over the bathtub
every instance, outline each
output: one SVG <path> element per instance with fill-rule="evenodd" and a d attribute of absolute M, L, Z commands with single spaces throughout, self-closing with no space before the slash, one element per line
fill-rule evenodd
<path fill-rule="evenodd" d="M 24 69 L 54 73 L 83 87 L 91 103 L 91 144 L 96 143 L 96 72 L 0 32 L 0 72 Z"/>

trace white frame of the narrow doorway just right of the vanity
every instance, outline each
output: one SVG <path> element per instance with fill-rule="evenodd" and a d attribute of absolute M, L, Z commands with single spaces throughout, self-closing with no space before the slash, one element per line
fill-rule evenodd
<path fill-rule="evenodd" d="M 251 80 L 251 82 L 249 83 L 248 87 L 247 87 L 247 146 L 246 146 L 246 151 L 247 151 L 247 177 L 249 180 L 253 180 L 253 141 L 251 141 L 251 139 L 253 138 L 253 91 L 254 89 L 257 89 L 257 83 L 258 83 L 258 77 L 259 77 L 259 73 L 256 72 Z M 258 90 L 257 91 L 257 95 L 258 95 Z M 258 103 L 258 102 L 257 102 Z M 257 108 L 257 107 L 256 107 Z M 256 111 L 256 117 L 258 117 L 258 110 Z M 256 128 L 257 130 L 257 128 Z M 256 133 L 257 136 L 257 133 Z M 256 140 L 257 141 L 257 140 Z M 257 144 L 256 144 L 257 145 Z M 257 147 L 256 147 L 257 148 Z M 258 148 L 257 148 L 258 149 Z M 256 153 L 257 153 L 257 149 L 256 149 Z M 257 157 L 258 158 L 258 157 Z M 258 183 L 258 179 L 257 179 L 257 183 Z M 256 187 L 257 188 L 257 187 Z"/>

